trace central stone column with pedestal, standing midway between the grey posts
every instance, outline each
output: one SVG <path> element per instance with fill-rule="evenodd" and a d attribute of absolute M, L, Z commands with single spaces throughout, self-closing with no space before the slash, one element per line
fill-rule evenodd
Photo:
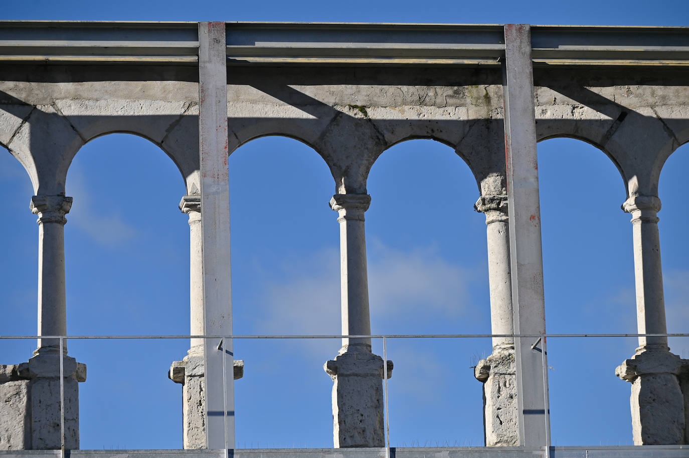
<path fill-rule="evenodd" d="M 331 209 L 340 217 L 342 335 L 370 335 L 364 211 L 367 194 L 336 194 Z M 392 373 L 388 361 L 388 377 Z M 336 448 L 384 447 L 383 360 L 371 352 L 371 339 L 343 338 L 325 371 L 333 379 L 333 440 Z"/>

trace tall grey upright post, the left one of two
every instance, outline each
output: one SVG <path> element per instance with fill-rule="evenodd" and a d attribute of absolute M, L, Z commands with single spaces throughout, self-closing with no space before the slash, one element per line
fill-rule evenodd
<path fill-rule="evenodd" d="M 232 335 L 225 23 L 198 23 L 198 128 L 205 335 Z M 207 339 L 207 448 L 234 448 L 232 340 Z M 223 358 L 225 360 L 223 360 Z"/>

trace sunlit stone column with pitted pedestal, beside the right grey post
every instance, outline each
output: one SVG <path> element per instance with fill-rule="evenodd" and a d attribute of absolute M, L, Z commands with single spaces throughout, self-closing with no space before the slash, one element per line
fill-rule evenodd
<path fill-rule="evenodd" d="M 491 333 L 513 334 L 512 280 L 507 196 L 482 196 L 474 205 L 486 214 Z M 486 446 L 518 446 L 517 382 L 513 337 L 493 337 L 493 353 L 475 367 L 483 382 Z"/>

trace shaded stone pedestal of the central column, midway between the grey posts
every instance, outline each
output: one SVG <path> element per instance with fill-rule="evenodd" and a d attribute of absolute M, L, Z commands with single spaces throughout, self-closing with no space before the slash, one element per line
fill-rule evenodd
<path fill-rule="evenodd" d="M 354 346 L 343 347 L 324 364 L 333 379 L 333 442 L 335 448 L 384 447 L 382 357 Z M 393 363 L 387 362 L 387 376 Z"/>

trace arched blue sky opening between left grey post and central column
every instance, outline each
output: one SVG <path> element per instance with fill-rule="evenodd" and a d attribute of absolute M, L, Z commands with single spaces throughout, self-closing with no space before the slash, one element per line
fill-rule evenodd
<path fill-rule="evenodd" d="M 236 334 L 340 333 L 338 215 L 328 208 L 333 181 L 318 156 L 285 134 L 247 140 L 229 156 Z M 321 421 L 331 408 L 330 379 L 321 366 L 339 348 L 335 342 L 236 341 L 236 358 L 292 362 L 274 367 L 283 382 L 268 392 L 258 383 L 266 375 L 261 370 L 246 371 L 235 384 L 243 440 L 286 441 L 306 425 L 322 446 L 332 446 L 332 423 Z M 289 421 L 304 406 L 311 408 L 302 421 Z M 248 410 L 260 415 L 239 414 Z M 262 423 L 266 415 L 273 420 Z"/>

